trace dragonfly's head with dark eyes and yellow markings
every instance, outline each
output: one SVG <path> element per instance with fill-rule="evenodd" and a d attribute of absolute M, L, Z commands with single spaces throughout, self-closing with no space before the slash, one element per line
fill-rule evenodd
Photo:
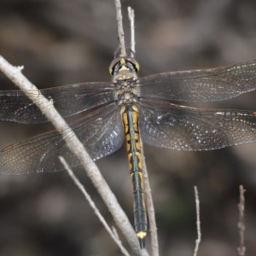
<path fill-rule="evenodd" d="M 113 59 L 109 66 L 109 73 L 113 76 L 113 80 L 137 78 L 138 71 L 138 62 L 127 56 Z"/>

